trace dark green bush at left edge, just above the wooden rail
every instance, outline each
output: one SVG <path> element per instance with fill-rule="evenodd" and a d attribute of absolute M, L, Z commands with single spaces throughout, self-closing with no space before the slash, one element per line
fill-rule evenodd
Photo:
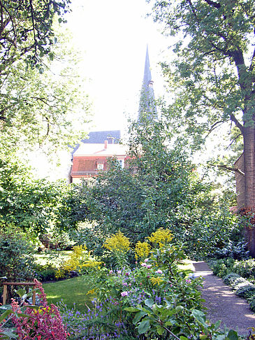
<path fill-rule="evenodd" d="M 34 278 L 34 247 L 24 234 L 2 226 L 0 248 L 0 276 L 13 282 Z"/>

